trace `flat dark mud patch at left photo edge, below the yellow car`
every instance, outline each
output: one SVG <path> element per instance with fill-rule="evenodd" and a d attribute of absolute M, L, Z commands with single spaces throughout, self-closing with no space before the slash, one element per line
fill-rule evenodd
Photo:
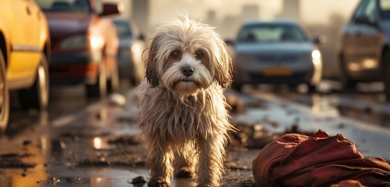
<path fill-rule="evenodd" d="M 18 155 L 15 153 L 0 155 L 0 168 L 34 168 L 37 164 L 21 161 L 21 158 L 30 156 L 31 154 Z"/>

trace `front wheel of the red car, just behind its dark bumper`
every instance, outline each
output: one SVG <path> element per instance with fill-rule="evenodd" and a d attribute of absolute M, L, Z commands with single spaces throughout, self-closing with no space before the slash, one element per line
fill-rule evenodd
<path fill-rule="evenodd" d="M 107 77 L 106 67 L 104 61 L 99 63 L 99 73 L 97 74 L 97 81 L 93 85 L 86 85 L 87 97 L 101 97 L 104 98 L 107 95 Z"/>

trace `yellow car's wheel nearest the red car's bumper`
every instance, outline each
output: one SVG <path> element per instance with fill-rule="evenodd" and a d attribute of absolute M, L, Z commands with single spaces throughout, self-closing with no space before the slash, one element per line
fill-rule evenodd
<path fill-rule="evenodd" d="M 47 108 L 49 104 L 49 67 L 46 54 L 42 54 L 34 85 L 31 88 L 19 90 L 19 99 L 22 109 L 45 110 Z"/>

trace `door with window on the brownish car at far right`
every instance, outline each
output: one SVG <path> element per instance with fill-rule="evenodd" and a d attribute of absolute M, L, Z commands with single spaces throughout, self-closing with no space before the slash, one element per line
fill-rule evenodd
<path fill-rule="evenodd" d="M 383 35 L 376 26 L 377 0 L 364 0 L 353 17 L 350 30 L 349 64 L 355 71 L 377 69 L 378 47 Z"/>

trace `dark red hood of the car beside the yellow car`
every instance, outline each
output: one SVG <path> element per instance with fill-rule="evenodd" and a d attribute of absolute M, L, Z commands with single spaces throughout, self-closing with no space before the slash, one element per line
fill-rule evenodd
<path fill-rule="evenodd" d="M 51 36 L 86 32 L 94 14 L 88 12 L 46 12 Z"/>

